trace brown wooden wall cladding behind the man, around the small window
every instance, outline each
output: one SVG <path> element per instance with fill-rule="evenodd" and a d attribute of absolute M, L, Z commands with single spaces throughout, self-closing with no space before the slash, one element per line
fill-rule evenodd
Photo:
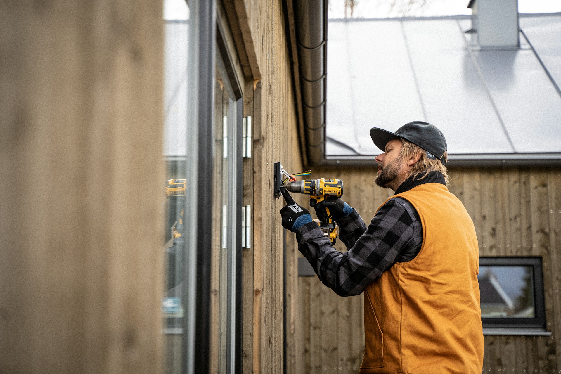
<path fill-rule="evenodd" d="M 551 336 L 485 336 L 484 372 L 561 372 L 561 168 L 451 170 L 450 192 L 475 224 L 480 256 L 540 256 L 546 329 Z M 342 178 L 343 200 L 368 223 L 393 191 L 374 169 L 317 168 Z M 342 244 L 337 248 L 343 250 Z M 362 295 L 337 296 L 314 278 L 298 279 L 297 373 L 358 372 L 364 349 Z"/>

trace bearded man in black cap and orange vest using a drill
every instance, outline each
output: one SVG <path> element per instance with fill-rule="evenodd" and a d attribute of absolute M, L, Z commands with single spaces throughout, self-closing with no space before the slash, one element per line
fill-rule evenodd
<path fill-rule="evenodd" d="M 298 249 L 335 293 L 364 293 L 365 352 L 361 374 L 481 373 L 483 335 L 479 251 L 465 207 L 448 192 L 447 145 L 442 132 L 421 121 L 395 133 L 372 128 L 384 153 L 376 157 L 376 184 L 395 192 L 366 227 L 340 198 L 326 208 L 348 251 L 329 244 L 309 211 L 281 211 Z"/>

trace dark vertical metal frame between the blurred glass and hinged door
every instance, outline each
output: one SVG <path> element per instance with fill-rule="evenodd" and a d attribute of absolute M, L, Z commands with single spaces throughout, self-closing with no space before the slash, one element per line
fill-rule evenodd
<path fill-rule="evenodd" d="M 187 0 L 190 9 L 188 55 L 188 121 L 192 133 L 187 134 L 187 145 L 193 163 L 187 163 L 187 176 L 196 176 L 191 185 L 185 211 L 191 220 L 191 235 L 186 248 L 196 248 L 185 256 L 183 266 L 182 374 L 210 373 L 210 287 L 212 238 L 213 178 L 213 79 L 216 32 L 215 0 Z M 193 170 L 195 169 L 195 170 Z"/>

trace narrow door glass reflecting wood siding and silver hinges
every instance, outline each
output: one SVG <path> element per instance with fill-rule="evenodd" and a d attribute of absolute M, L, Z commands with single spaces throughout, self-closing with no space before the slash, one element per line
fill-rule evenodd
<path fill-rule="evenodd" d="M 214 80 L 211 372 L 233 373 L 236 318 L 236 101 L 217 54 Z"/>

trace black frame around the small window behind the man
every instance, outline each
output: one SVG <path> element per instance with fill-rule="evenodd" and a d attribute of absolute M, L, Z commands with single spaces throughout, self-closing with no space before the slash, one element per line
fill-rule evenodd
<path fill-rule="evenodd" d="M 484 329 L 545 329 L 544 275 L 541 257 L 480 257 L 479 266 L 531 266 L 534 281 L 534 318 L 481 318 Z"/>

